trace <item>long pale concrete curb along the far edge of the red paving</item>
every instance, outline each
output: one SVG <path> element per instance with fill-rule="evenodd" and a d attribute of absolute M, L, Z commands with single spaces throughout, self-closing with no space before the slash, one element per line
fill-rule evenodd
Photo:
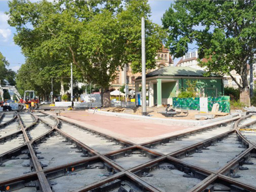
<path fill-rule="evenodd" d="M 177 119 L 153 118 L 153 117 L 140 116 L 140 115 L 134 115 L 134 114 L 114 113 L 114 112 L 100 111 L 100 110 L 94 110 L 94 109 L 89 109 L 88 113 L 114 116 L 114 117 L 133 119 L 133 120 L 142 120 L 145 122 L 151 122 L 156 124 L 180 125 L 180 126 L 202 126 L 202 125 L 211 124 L 214 122 L 219 122 L 219 121 L 234 118 L 236 116 L 243 115 L 242 113 L 234 113 L 227 116 L 208 119 L 208 120 L 177 120 Z"/>

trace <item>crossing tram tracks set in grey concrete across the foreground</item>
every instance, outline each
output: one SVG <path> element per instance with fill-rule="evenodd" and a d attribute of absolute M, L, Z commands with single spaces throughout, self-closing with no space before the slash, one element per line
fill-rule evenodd
<path fill-rule="evenodd" d="M 18 121 L 21 130 L 14 133 L 15 136 L 10 134 L 10 139 L 2 138 L 4 143 L 15 139 L 17 134 L 22 135 L 24 142 L 12 150 L 0 151 L 0 163 L 11 162 L 13 154 L 21 157 L 24 155 L 22 150 L 26 149 L 31 156 L 31 171 L 24 176 L 9 174 L 7 180 L 0 180 L 2 191 L 6 191 L 7 186 L 11 188 L 8 191 L 14 192 L 35 189 L 38 192 L 256 191 L 254 180 L 230 175 L 235 172 L 244 178 L 254 176 L 254 164 L 248 167 L 250 174 L 239 170 L 239 166 L 245 166 L 246 160 L 256 159 L 256 143 L 244 132 L 245 129 L 254 129 L 254 116 L 234 118 L 196 131 L 134 144 L 56 116 L 29 115 L 22 118 L 22 114 L 18 114 L 7 121 L 7 124 Z M 31 122 L 30 117 L 34 121 Z M 44 124 L 48 129 L 46 132 L 36 131 L 37 135 L 32 136 L 31 130 L 34 127 L 36 130 L 38 124 Z M 231 148 L 234 153 L 228 151 Z M 226 159 L 221 166 L 210 168 L 210 154 L 215 161 L 218 161 L 219 154 Z M 64 160 L 65 157 L 68 158 Z M 196 163 L 203 159 L 206 162 Z M 32 186 L 28 187 L 30 182 Z"/>

